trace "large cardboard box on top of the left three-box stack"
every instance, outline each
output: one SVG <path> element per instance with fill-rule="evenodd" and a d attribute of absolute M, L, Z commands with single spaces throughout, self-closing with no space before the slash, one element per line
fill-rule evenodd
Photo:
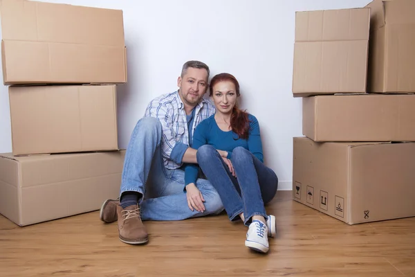
<path fill-rule="evenodd" d="M 0 4 L 4 84 L 127 82 L 122 10 Z"/>

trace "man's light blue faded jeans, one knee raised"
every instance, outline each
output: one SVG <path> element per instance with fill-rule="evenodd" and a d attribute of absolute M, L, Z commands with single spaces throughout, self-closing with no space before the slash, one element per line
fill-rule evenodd
<path fill-rule="evenodd" d="M 197 179 L 196 187 L 205 198 L 205 211 L 191 211 L 185 193 L 185 172 L 165 168 L 161 157 L 163 129 L 157 118 L 138 121 L 131 134 L 122 171 L 120 196 L 126 191 L 141 193 L 142 220 L 185 220 L 219 214 L 223 204 L 212 184 Z"/>

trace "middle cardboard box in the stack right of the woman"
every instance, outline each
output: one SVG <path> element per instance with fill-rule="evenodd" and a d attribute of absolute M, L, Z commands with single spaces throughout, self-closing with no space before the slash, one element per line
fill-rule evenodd
<path fill-rule="evenodd" d="M 415 141 L 415 95 L 303 98 L 302 131 L 313 141 Z"/>

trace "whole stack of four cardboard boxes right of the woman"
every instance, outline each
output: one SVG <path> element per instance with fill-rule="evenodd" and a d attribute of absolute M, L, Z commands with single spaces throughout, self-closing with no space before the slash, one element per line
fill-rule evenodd
<path fill-rule="evenodd" d="M 415 216 L 415 2 L 297 12 L 293 199 L 347 224 Z"/>

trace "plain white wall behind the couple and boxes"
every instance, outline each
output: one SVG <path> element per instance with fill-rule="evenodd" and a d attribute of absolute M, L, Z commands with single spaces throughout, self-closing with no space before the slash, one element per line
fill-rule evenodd
<path fill-rule="evenodd" d="M 295 11 L 365 6 L 370 0 L 43 0 L 124 10 L 128 84 L 119 88 L 120 147 L 127 148 L 147 102 L 177 89 L 187 60 L 212 76 L 234 74 L 241 107 L 257 116 L 266 164 L 291 190 L 293 136 L 302 136 L 301 100 L 291 93 Z M 1 84 L 3 80 L 1 80 Z M 0 86 L 0 152 L 10 152 L 7 87 Z"/>

